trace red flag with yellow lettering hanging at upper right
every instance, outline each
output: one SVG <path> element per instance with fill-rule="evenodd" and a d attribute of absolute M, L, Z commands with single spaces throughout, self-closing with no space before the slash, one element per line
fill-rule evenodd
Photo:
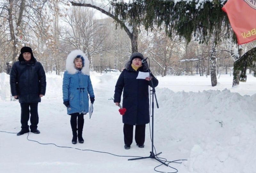
<path fill-rule="evenodd" d="M 228 14 L 238 44 L 256 40 L 256 0 L 228 0 L 222 10 Z"/>

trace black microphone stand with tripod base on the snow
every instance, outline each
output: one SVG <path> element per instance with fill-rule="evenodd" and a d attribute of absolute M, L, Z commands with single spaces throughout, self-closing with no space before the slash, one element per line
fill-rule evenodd
<path fill-rule="evenodd" d="M 146 58 L 147 59 L 147 58 Z M 147 65 L 148 67 L 148 62 L 147 61 L 144 61 L 144 63 Z M 151 78 L 151 71 L 148 67 L 148 73 L 149 73 L 149 77 Z M 134 158 L 134 159 L 128 159 L 128 161 L 130 160 L 138 160 L 138 159 L 148 159 L 148 158 L 151 158 L 151 159 L 155 159 L 157 160 L 158 162 L 161 162 L 162 164 L 164 164 L 165 166 L 168 166 L 166 163 L 162 162 L 161 160 L 159 160 L 158 158 L 156 158 L 157 155 L 161 154 L 162 152 L 158 153 L 158 154 L 154 154 L 154 95 L 155 95 L 155 99 L 156 99 L 156 90 L 155 90 L 155 86 L 153 84 L 153 81 L 152 79 L 150 80 L 151 81 L 151 85 L 152 85 L 152 150 L 150 151 L 150 156 L 148 157 L 140 157 L 140 158 Z M 157 102 L 157 99 L 156 99 L 156 106 L 157 108 L 159 108 L 158 106 L 158 102 Z"/>

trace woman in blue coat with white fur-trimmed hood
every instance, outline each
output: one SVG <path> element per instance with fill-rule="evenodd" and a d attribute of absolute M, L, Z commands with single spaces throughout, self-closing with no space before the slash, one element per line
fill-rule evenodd
<path fill-rule="evenodd" d="M 72 144 L 84 143 L 82 137 L 84 114 L 89 112 L 89 97 L 94 102 L 94 93 L 89 74 L 89 60 L 81 50 L 70 52 L 66 60 L 63 77 L 63 104 L 71 115 L 70 124 L 73 132 Z"/>

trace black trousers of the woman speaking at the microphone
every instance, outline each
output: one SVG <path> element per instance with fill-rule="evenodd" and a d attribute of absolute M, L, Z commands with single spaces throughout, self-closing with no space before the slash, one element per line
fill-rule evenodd
<path fill-rule="evenodd" d="M 142 145 L 145 142 L 146 124 L 135 125 L 135 142 Z M 133 138 L 133 125 L 124 124 L 124 144 L 131 145 Z"/>

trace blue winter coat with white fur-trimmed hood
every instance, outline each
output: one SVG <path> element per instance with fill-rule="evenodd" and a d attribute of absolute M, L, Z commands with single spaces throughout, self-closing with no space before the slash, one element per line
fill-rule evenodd
<path fill-rule="evenodd" d="M 81 71 L 75 69 L 73 63 L 77 55 L 82 56 L 83 69 Z M 62 93 L 63 102 L 69 101 L 69 107 L 71 108 L 67 108 L 67 113 L 85 114 L 89 111 L 88 94 L 90 97 L 94 97 L 92 82 L 89 76 L 89 60 L 82 51 L 72 51 L 68 55 L 66 68 L 67 71 L 64 72 L 63 77 Z"/>

